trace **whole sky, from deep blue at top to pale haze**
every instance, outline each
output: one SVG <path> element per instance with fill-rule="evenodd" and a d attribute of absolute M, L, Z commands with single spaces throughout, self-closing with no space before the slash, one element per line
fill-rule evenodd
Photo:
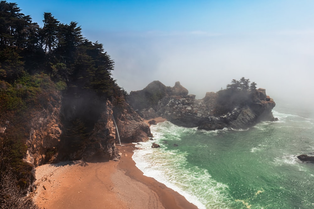
<path fill-rule="evenodd" d="M 104 44 L 127 92 L 180 81 L 200 99 L 245 77 L 275 102 L 313 108 L 312 0 L 13 2 L 40 26 L 44 12 L 78 22 Z"/>

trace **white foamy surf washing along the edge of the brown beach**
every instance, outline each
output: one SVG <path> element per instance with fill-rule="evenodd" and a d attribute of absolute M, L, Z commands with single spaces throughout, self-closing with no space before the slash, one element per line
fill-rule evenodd
<path fill-rule="evenodd" d="M 187 168 L 187 153 L 162 147 L 152 149 L 151 142 L 141 144 L 136 145 L 141 149 L 134 151 L 133 160 L 144 175 L 177 191 L 200 209 L 214 205 L 227 208 L 226 200 L 231 199 L 228 186 L 213 180 L 207 170 L 196 166 Z"/>

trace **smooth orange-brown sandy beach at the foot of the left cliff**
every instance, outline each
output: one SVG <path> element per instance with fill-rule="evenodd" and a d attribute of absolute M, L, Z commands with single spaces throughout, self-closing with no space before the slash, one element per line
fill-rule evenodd
<path fill-rule="evenodd" d="M 197 208 L 164 184 L 144 176 L 132 159 L 133 144 L 118 148 L 122 153 L 119 162 L 86 165 L 70 161 L 37 167 L 35 202 L 45 209 Z"/>

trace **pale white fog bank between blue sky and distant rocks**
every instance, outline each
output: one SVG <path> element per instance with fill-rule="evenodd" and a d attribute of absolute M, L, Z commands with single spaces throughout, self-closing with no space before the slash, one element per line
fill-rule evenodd
<path fill-rule="evenodd" d="M 249 78 L 275 102 L 310 108 L 314 101 L 314 31 L 265 34 L 107 33 L 113 77 L 128 92 L 151 81 L 176 81 L 203 98 L 232 79 Z M 100 40 L 101 41 L 101 40 Z M 279 102 L 279 103 L 280 103 Z"/>

